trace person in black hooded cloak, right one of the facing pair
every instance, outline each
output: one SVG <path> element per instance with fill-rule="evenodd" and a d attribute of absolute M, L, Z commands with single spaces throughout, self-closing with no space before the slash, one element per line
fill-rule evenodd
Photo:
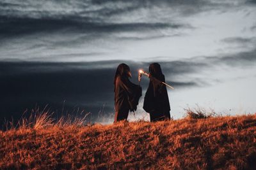
<path fill-rule="evenodd" d="M 164 74 L 158 63 L 149 66 L 149 85 L 145 94 L 143 109 L 150 114 L 150 122 L 170 119 L 170 103 Z"/>

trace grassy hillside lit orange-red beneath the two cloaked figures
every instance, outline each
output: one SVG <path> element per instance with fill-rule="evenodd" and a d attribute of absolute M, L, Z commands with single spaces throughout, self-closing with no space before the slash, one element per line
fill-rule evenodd
<path fill-rule="evenodd" d="M 44 121 L 42 121 L 44 122 Z M 256 169 L 256 115 L 0 131 L 0 169 Z"/>

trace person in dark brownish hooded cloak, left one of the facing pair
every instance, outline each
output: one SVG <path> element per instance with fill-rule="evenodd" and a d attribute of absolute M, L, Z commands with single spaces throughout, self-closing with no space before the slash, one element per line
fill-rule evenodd
<path fill-rule="evenodd" d="M 140 85 L 135 85 L 127 64 L 119 64 L 114 79 L 115 92 L 115 121 L 127 120 L 129 111 L 136 111 L 141 97 Z"/>

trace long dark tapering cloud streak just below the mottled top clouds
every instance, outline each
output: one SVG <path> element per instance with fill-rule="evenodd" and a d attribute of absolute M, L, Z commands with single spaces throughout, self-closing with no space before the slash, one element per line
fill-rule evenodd
<path fill-rule="evenodd" d="M 166 23 L 98 23 L 98 22 L 81 22 L 72 20 L 72 18 L 8 18 L 0 17 L 1 36 L 19 36 L 22 34 L 33 34 L 35 32 L 61 31 L 70 29 L 72 32 L 79 33 L 111 33 L 111 32 L 131 32 L 131 31 L 150 31 L 152 29 L 179 29 L 188 28 L 189 25 L 166 24 Z"/>

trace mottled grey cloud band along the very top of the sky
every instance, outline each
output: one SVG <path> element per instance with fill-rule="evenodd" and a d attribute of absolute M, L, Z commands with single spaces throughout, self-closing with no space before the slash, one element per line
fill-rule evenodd
<path fill-rule="evenodd" d="M 131 14 L 134 10 L 154 10 L 154 8 L 170 8 L 173 12 L 188 15 L 221 7 L 224 4 L 232 5 L 232 2 L 216 3 L 206 0 L 143 0 L 143 1 L 13 1 L 12 3 L 0 3 L 1 13 L 4 15 L 30 16 L 36 18 L 65 17 L 76 14 L 77 17 L 86 19 L 104 20 L 121 14 Z M 233 4 L 234 5 L 234 4 Z M 26 9 L 29 9 L 26 10 Z"/>

